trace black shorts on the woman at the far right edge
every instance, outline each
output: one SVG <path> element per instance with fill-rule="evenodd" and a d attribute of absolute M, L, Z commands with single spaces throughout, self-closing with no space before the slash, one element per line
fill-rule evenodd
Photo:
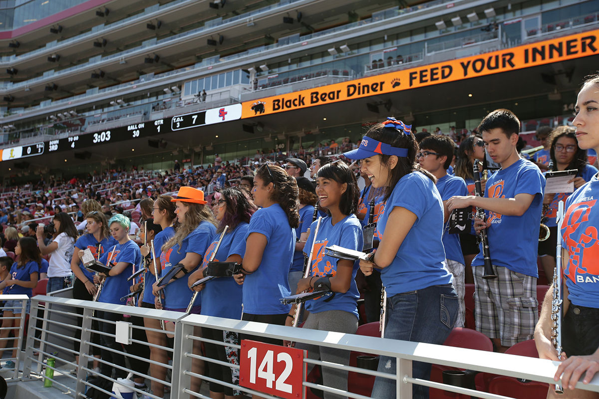
<path fill-rule="evenodd" d="M 570 304 L 562 319 L 561 344 L 568 357 L 594 354 L 599 348 L 599 309 Z"/>

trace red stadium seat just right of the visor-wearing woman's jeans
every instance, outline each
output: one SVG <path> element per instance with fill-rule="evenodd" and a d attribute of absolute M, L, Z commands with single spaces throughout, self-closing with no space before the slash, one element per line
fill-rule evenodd
<path fill-rule="evenodd" d="M 453 328 L 443 345 L 455 346 L 456 348 L 476 349 L 478 351 L 486 352 L 493 351 L 493 343 L 491 342 L 491 339 L 485 336 L 485 334 L 479 333 L 476 330 L 471 330 L 470 328 Z M 443 371 L 445 370 L 459 370 L 459 368 L 433 364 L 431 370 L 431 381 L 443 382 Z M 482 386 L 477 386 L 476 388 L 479 391 L 483 390 Z M 429 395 L 431 399 L 470 398 L 468 395 L 455 394 L 453 392 L 442 391 L 441 389 L 434 388 L 430 389 Z"/>

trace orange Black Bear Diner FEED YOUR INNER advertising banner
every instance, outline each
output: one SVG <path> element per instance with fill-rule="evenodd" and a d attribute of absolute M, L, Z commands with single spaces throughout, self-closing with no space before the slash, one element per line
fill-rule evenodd
<path fill-rule="evenodd" d="M 598 54 L 599 29 L 491 53 L 243 102 L 241 118 L 416 89 Z"/>

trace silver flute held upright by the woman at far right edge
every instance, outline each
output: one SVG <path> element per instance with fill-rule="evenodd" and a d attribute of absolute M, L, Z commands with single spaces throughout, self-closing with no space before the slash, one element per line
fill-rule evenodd
<path fill-rule="evenodd" d="M 557 224 L 561 225 L 564 218 L 564 202 L 558 203 Z M 551 301 L 551 343 L 555 347 L 558 359 L 561 355 L 561 323 L 562 323 L 562 302 L 564 301 L 564 291 L 562 290 L 562 237 L 558 230 L 558 246 L 555 255 L 555 272 L 553 273 L 553 299 Z M 555 393 L 563 394 L 564 389 L 561 384 L 555 384 Z"/>

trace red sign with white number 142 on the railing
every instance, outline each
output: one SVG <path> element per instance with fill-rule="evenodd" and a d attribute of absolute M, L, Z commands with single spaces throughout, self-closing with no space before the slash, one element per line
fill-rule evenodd
<path fill-rule="evenodd" d="M 241 386 L 286 399 L 304 398 L 305 351 L 242 340 L 240 355 Z"/>

